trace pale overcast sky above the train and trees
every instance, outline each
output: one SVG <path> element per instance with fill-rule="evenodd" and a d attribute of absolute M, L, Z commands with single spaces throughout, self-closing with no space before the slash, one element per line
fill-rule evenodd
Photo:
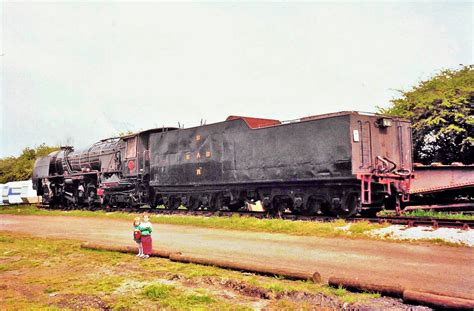
<path fill-rule="evenodd" d="M 0 157 L 246 115 L 375 111 L 472 63 L 472 2 L 3 3 Z"/>

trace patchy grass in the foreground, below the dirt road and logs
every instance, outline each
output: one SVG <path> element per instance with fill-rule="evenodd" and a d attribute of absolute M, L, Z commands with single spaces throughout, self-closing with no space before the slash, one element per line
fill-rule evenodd
<path fill-rule="evenodd" d="M 0 232 L 0 305 L 9 309 L 339 309 L 378 294 Z M 305 297 L 301 299 L 301 297 Z"/>

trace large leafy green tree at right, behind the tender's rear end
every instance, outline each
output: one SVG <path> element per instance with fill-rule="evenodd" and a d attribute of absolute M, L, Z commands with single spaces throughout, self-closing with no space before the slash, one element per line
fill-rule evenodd
<path fill-rule="evenodd" d="M 474 65 L 442 70 L 399 92 L 379 110 L 412 121 L 415 162 L 474 162 Z"/>

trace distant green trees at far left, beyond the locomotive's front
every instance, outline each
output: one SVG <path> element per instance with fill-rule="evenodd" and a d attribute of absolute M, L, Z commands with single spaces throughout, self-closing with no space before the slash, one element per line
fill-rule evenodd
<path fill-rule="evenodd" d="M 42 144 L 35 149 L 26 147 L 19 157 L 0 159 L 0 184 L 30 179 L 35 160 L 58 149 L 59 147 L 50 147 Z"/>

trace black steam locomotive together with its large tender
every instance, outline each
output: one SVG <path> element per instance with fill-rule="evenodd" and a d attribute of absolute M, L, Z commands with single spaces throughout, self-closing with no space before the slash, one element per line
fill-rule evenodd
<path fill-rule="evenodd" d="M 411 124 L 338 112 L 280 122 L 230 116 L 62 147 L 35 162 L 43 203 L 163 205 L 237 211 L 260 201 L 269 213 L 350 217 L 399 208 L 412 176 Z"/>

